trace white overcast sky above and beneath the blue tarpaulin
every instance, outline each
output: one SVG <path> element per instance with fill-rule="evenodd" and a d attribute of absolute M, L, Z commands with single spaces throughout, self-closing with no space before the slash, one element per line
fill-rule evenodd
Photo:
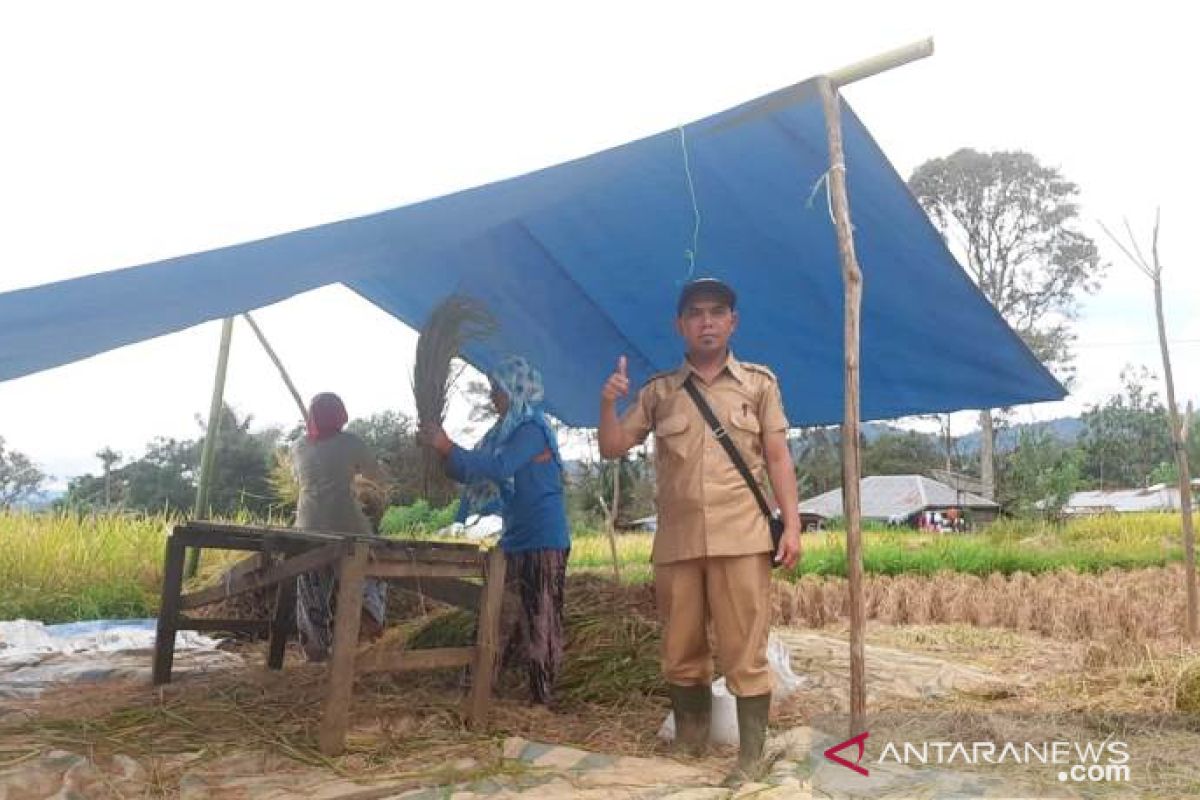
<path fill-rule="evenodd" d="M 1176 383 L 1200 399 L 1195 25 L 1166 2 L 11 2 L 0 7 L 0 291 L 341 219 L 526 173 L 932 35 L 845 95 L 907 176 L 1021 149 L 1082 190 L 1112 261 L 1078 324 L 1075 414 L 1124 363 L 1162 373 L 1150 282 L 1094 221 L 1162 257 Z M 300 391 L 410 409 L 415 335 L 341 287 L 257 313 Z M 665 321 L 665 324 L 668 324 Z M 0 437 L 58 479 L 110 445 L 194 437 L 220 324 L 0 384 Z M 296 410 L 245 326 L 227 399 Z M 970 426 L 956 420 L 959 429 Z"/>

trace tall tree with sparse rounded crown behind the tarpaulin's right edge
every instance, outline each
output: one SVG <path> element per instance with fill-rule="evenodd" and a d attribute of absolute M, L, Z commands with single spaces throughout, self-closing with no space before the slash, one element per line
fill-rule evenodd
<path fill-rule="evenodd" d="M 1027 152 L 971 149 L 925 162 L 908 186 L 996 311 L 1069 381 L 1078 297 L 1104 272 L 1096 242 L 1074 227 L 1079 187 Z M 991 487 L 991 409 L 979 426 L 980 476 Z"/>

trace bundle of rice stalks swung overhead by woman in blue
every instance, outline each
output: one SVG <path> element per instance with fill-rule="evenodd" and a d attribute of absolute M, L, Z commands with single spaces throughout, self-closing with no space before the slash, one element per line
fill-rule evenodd
<path fill-rule="evenodd" d="M 445 419 L 446 396 L 454 383 L 450 362 L 472 339 L 496 332 L 496 320 L 481 302 L 461 294 L 443 300 L 430 314 L 416 341 L 416 363 L 413 367 L 413 397 L 416 399 L 419 423 L 442 425 Z M 427 456 L 426 475 L 432 457 Z"/>

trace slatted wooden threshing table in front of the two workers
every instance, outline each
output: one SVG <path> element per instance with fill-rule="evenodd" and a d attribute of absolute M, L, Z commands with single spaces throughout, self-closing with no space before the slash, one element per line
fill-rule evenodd
<path fill-rule="evenodd" d="M 190 547 L 247 551 L 254 555 L 234 565 L 221 583 L 185 595 L 184 554 Z M 162 604 L 155 639 L 154 682 L 158 685 L 170 681 L 176 631 L 269 633 L 266 666 L 271 669 L 282 668 L 283 650 L 293 632 L 295 578 L 326 566 L 331 566 L 337 575 L 337 608 L 334 618 L 334 652 L 329 662 L 329 684 L 322 710 L 322 752 L 342 752 L 354 675 L 361 673 L 470 666 L 472 687 L 466 699 L 466 716 L 472 724 L 486 724 L 504 595 L 504 554 L 498 547 L 485 552 L 475 545 L 398 541 L 379 536 L 208 522 L 176 525 L 167 540 Z M 365 578 L 384 578 L 390 584 L 420 590 L 442 602 L 478 608 L 479 633 L 475 645 L 403 650 L 391 655 L 368 650 L 359 657 L 358 638 Z M 270 587 L 276 588 L 271 619 L 194 619 L 184 615 L 184 612 L 193 608 Z"/>

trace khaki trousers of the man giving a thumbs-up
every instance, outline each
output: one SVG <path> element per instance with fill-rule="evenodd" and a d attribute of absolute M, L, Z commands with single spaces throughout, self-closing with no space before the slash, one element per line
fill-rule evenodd
<path fill-rule="evenodd" d="M 770 555 L 731 555 L 654 565 L 662 620 L 662 674 L 677 686 L 713 682 L 708 643 L 712 621 L 716 656 L 730 692 L 770 692 Z"/>

